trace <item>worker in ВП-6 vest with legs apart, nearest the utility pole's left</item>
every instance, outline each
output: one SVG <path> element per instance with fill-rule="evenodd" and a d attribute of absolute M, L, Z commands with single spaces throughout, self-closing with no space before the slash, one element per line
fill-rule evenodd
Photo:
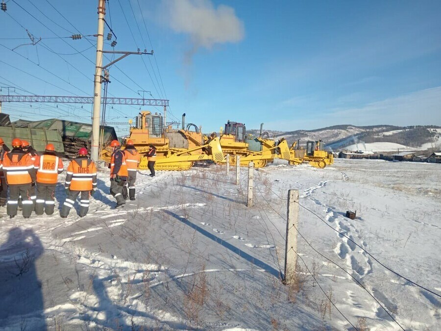
<path fill-rule="evenodd" d="M 86 216 L 89 211 L 89 197 L 97 190 L 97 167 L 88 156 L 85 148 L 80 148 L 78 157 L 69 163 L 66 172 L 66 201 L 60 211 L 60 216 L 66 218 L 75 203 L 76 198 L 80 196 L 79 216 Z"/>

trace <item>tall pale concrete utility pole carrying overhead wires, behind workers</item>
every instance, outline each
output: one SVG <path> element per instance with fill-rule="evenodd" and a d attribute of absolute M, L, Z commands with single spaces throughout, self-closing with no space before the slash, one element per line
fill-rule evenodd
<path fill-rule="evenodd" d="M 102 47 L 104 43 L 104 16 L 106 14 L 105 0 L 98 0 L 98 34 L 97 59 L 94 79 L 94 110 L 92 115 L 92 160 L 98 161 L 99 155 L 99 112 L 101 108 L 101 74 L 102 74 Z"/>

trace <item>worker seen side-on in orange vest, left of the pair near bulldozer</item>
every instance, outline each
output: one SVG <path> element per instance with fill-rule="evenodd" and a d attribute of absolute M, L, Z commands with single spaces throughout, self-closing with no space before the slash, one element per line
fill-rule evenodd
<path fill-rule="evenodd" d="M 110 147 L 113 147 L 110 160 L 110 194 L 117 200 L 115 208 L 119 208 L 124 206 L 126 199 L 124 197 L 124 186 L 128 177 L 127 164 L 125 163 L 125 154 L 120 148 L 120 142 L 113 140 Z"/>

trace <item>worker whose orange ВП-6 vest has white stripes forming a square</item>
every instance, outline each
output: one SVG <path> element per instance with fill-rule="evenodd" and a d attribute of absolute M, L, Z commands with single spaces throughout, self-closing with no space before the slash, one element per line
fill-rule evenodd
<path fill-rule="evenodd" d="M 45 153 L 35 160 L 37 169 L 37 201 L 35 213 L 37 215 L 52 215 L 55 207 L 54 192 L 58 182 L 58 175 L 64 170 L 61 157 L 55 155 L 55 147 L 46 145 Z"/>

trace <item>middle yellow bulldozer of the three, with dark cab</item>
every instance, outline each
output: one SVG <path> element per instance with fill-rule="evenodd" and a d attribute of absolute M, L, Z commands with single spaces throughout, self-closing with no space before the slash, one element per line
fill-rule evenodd
<path fill-rule="evenodd" d="M 291 164 L 300 164 L 302 160 L 294 157 L 291 153 L 288 143 L 284 138 L 277 143 L 269 139 L 268 132 L 262 132 L 263 123 L 260 127 L 260 135 L 255 138 L 246 135 L 245 124 L 227 121 L 223 131 L 220 132 L 221 149 L 224 153 L 229 154 L 231 164 L 236 164 L 237 156 L 240 156 L 241 167 L 247 167 L 249 162 L 253 161 L 255 168 L 262 168 L 268 162 L 274 161 L 275 158 L 283 158 L 290 161 Z M 211 137 L 216 136 L 213 132 Z M 218 164 L 224 164 L 226 161 L 215 161 Z"/>

